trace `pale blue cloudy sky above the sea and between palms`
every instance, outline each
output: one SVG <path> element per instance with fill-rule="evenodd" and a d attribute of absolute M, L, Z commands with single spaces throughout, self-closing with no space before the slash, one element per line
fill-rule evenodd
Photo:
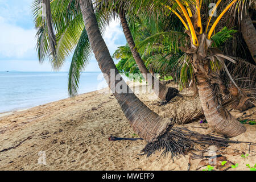
<path fill-rule="evenodd" d="M 0 0 L 0 71 L 52 71 L 48 59 L 40 64 L 36 55 L 36 30 L 31 5 L 32 0 Z M 119 46 L 126 44 L 119 20 L 111 22 L 106 28 L 104 40 L 111 55 Z M 65 61 L 60 71 L 69 71 L 71 58 Z M 94 55 L 85 71 L 100 71 Z"/>

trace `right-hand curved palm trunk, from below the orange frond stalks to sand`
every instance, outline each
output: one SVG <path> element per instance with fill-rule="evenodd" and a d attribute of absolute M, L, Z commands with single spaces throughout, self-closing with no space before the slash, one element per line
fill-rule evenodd
<path fill-rule="evenodd" d="M 217 97 L 210 85 L 210 72 L 212 70 L 209 67 L 209 61 L 206 60 L 209 44 L 207 44 L 205 34 L 201 35 L 199 40 L 199 48 L 197 52 L 193 53 L 193 64 L 196 72 L 196 86 L 199 91 L 199 98 L 205 118 L 209 126 L 217 133 L 228 137 L 240 135 L 246 131 L 246 127 L 218 103 Z"/>

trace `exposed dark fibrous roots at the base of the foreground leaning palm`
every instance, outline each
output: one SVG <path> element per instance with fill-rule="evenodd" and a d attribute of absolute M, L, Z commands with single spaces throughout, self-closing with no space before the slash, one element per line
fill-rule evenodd
<path fill-rule="evenodd" d="M 219 147 L 228 147 L 229 143 L 243 143 L 240 141 L 229 140 L 224 137 L 216 137 L 216 135 L 204 135 L 195 131 L 188 130 L 186 127 L 170 126 L 166 133 L 158 137 L 156 142 L 147 143 L 141 151 L 142 155 L 154 154 L 156 151 L 163 151 L 161 155 L 170 152 L 171 158 L 177 155 L 185 155 L 191 150 L 197 150 L 196 144 L 215 145 Z"/>

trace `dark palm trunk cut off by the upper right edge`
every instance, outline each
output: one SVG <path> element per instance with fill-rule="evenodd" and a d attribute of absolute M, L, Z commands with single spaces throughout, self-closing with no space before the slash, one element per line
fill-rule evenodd
<path fill-rule="evenodd" d="M 246 10 L 246 14 L 243 14 L 243 18 L 241 20 L 241 32 L 243 35 L 243 39 L 245 40 L 247 47 L 256 63 L 256 30 L 253 25 L 253 21 L 250 18 L 248 10 Z"/>

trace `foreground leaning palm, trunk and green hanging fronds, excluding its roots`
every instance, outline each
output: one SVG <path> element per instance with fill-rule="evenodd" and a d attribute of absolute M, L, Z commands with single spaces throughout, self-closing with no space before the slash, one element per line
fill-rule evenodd
<path fill-rule="evenodd" d="M 77 2 L 78 4 L 76 4 Z M 52 1 L 52 13 L 51 9 L 47 9 L 47 13 L 52 15 L 52 24 L 47 23 L 47 19 L 43 19 L 42 16 L 38 16 L 38 13 L 40 14 L 40 12 L 38 12 L 37 3 L 36 0 L 33 7 L 35 24 L 36 27 L 38 27 L 38 56 L 40 61 L 43 61 L 45 57 L 49 55 L 52 67 L 54 69 L 59 69 L 61 65 L 63 65 L 65 57 L 69 55 L 68 53 L 70 53 L 76 45 L 71 63 L 71 71 L 69 73 L 69 75 L 76 76 L 76 73 L 79 75 L 82 68 L 84 68 L 86 61 L 88 61 L 89 51 L 92 49 L 99 67 L 102 73 L 104 73 L 105 79 L 114 93 L 115 98 L 117 98 L 123 113 L 125 113 L 131 127 L 133 127 L 134 131 L 139 134 L 140 137 L 149 143 L 154 142 L 159 135 L 162 135 L 167 131 L 169 125 L 172 126 L 170 118 L 162 118 L 151 111 L 135 96 L 129 86 L 127 86 L 126 82 L 122 80 L 102 38 L 98 26 L 100 18 L 97 18 L 96 14 L 94 14 L 91 1 Z M 77 10 L 76 5 L 81 9 L 80 12 Z M 71 7 L 71 9 L 68 9 L 68 7 Z M 68 11 L 60 11 L 60 9 L 66 9 Z M 76 12 L 76 16 L 69 14 L 73 11 Z M 65 15 L 58 14 L 58 12 L 63 12 Z M 80 15 L 82 15 L 83 23 L 81 23 Z M 82 28 L 82 24 L 85 25 L 84 28 Z M 56 35 L 52 34 L 53 32 L 47 31 L 49 26 L 55 27 L 55 32 L 57 32 Z M 79 31 L 72 32 L 72 26 L 75 26 L 75 30 Z M 77 28 L 77 26 L 79 28 Z M 49 44 L 49 37 L 56 37 L 56 42 L 54 44 Z M 88 43 L 90 43 L 90 47 Z M 57 46 L 55 47 L 54 45 Z M 55 54 L 52 54 L 52 49 L 56 50 Z M 84 55 L 85 57 L 83 57 Z M 72 73 L 73 69 L 76 70 L 75 74 Z M 114 75 L 110 74 L 112 72 Z M 118 80 L 118 78 L 121 79 Z M 69 78 L 69 81 L 78 84 L 77 79 L 78 78 L 76 77 L 73 81 L 72 78 Z M 118 86 L 122 92 L 117 92 L 116 88 Z M 70 88 L 69 90 L 72 89 L 73 88 Z"/>

